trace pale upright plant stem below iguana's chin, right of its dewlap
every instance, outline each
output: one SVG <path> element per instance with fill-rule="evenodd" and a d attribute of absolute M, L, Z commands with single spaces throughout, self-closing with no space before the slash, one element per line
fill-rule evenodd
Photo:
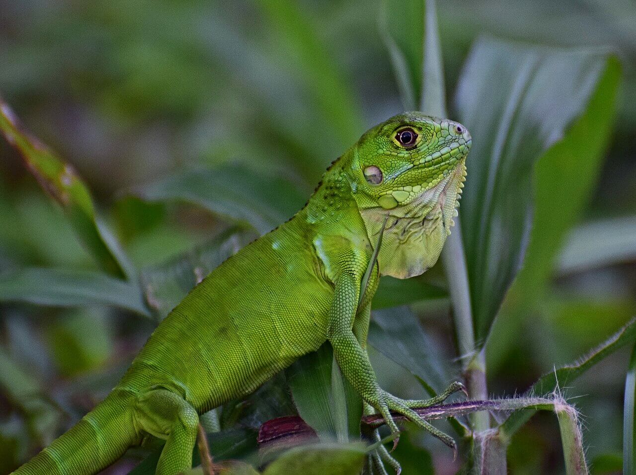
<path fill-rule="evenodd" d="M 471 399 L 487 399 L 486 358 L 483 351 L 476 353 L 471 294 L 468 287 L 468 271 L 459 217 L 455 217 L 455 229 L 446 239 L 441 258 L 448 279 L 457 345 L 459 354 L 464 360 L 462 369 L 466 376 L 468 394 Z M 490 428 L 488 413 L 485 411 L 471 414 L 471 422 L 476 432 Z"/>

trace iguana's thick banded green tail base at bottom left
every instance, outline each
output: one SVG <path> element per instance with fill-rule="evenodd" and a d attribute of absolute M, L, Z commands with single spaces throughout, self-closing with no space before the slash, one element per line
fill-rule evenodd
<path fill-rule="evenodd" d="M 111 393 L 68 432 L 18 468 L 14 475 L 95 474 L 137 441 L 133 422 L 136 398 Z"/>

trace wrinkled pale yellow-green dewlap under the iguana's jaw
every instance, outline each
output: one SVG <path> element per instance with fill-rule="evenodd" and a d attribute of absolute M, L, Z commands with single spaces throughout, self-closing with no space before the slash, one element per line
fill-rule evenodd
<path fill-rule="evenodd" d="M 371 242 L 377 242 L 389 214 L 378 256 L 381 275 L 408 279 L 436 263 L 454 224 L 453 216 L 457 216 L 457 200 L 465 180 L 464 157 L 438 184 L 422 191 L 410 203 L 390 210 L 360 209 Z"/>

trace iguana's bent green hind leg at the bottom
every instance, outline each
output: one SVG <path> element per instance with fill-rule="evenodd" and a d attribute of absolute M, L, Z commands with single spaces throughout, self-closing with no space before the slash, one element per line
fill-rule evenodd
<path fill-rule="evenodd" d="M 175 475 L 192 467 L 198 414 L 188 401 L 167 389 L 151 390 L 139 398 L 135 415 L 140 429 L 166 439 L 157 475 Z"/>

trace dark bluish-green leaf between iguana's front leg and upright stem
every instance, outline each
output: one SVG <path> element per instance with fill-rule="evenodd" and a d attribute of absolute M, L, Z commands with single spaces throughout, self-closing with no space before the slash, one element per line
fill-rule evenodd
<path fill-rule="evenodd" d="M 445 389 L 455 374 L 444 361 L 441 348 L 406 307 L 374 311 L 368 341 L 387 358 L 418 376 L 431 396 Z"/>

